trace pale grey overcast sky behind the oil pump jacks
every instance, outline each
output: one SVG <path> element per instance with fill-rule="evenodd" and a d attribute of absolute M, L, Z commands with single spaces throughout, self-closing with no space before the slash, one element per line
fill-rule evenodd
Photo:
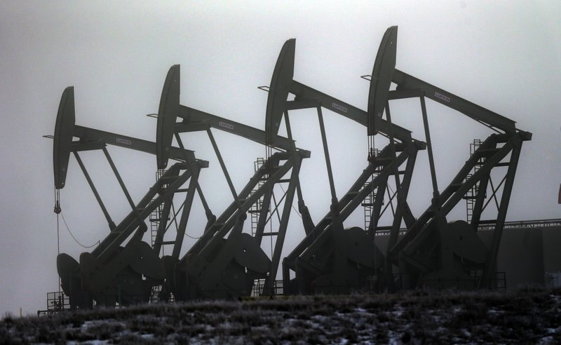
<path fill-rule="evenodd" d="M 181 64 L 181 102 L 264 128 L 266 93 L 285 40 L 297 39 L 295 80 L 366 109 L 368 83 L 381 36 L 398 25 L 396 67 L 517 121 L 534 133 L 522 147 L 507 220 L 560 216 L 561 6 L 557 1 L 1 1 L 0 2 L 0 315 L 46 308 L 58 290 L 57 217 L 53 213 L 52 135 L 62 90 L 74 86 L 76 124 L 155 140 L 161 88 L 169 67 Z M 487 128 L 428 102 L 441 189 L 461 168 L 474 138 Z M 365 168 L 365 128 L 324 111 L 339 196 Z M 392 104 L 394 122 L 424 140 L 418 100 Z M 314 221 L 330 203 L 317 116 L 293 111 L 297 145 L 312 151 L 302 165 L 304 198 Z M 264 149 L 215 131 L 241 190 Z M 210 161 L 201 186 L 215 214 L 231 202 L 210 142 L 200 133 L 184 143 Z M 156 158 L 109 148 L 135 201 L 154 182 Z M 119 222 L 128 204 L 100 152 L 83 161 Z M 430 204 L 426 152 L 419 154 L 410 191 L 415 216 Z M 108 226 L 71 158 L 62 212 L 83 245 Z M 463 219 L 465 205 L 450 217 Z M 302 238 L 292 214 L 285 244 Z M 62 221 L 62 219 L 61 219 Z M 200 236 L 200 203 L 187 233 Z M 362 212 L 347 226 L 363 225 Z M 189 239 L 184 248 L 189 247 Z M 61 252 L 81 248 L 60 227 Z"/>

